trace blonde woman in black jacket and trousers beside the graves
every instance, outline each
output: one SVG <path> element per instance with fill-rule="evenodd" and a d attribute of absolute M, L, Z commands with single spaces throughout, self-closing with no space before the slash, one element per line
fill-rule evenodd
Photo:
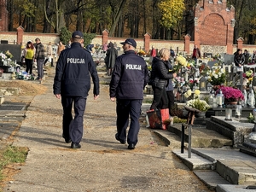
<path fill-rule="evenodd" d="M 160 109 L 168 108 L 168 97 L 166 94 L 166 85 L 168 79 L 176 78 L 176 73 L 168 73 L 168 60 L 170 58 L 170 50 L 163 48 L 160 49 L 160 55 L 154 57 L 152 61 L 152 88 L 154 90 L 154 99 L 150 109 L 156 109 L 160 101 Z"/>

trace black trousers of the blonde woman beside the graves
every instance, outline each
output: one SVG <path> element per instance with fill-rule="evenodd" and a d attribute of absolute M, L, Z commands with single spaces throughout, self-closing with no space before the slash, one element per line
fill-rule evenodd
<path fill-rule="evenodd" d="M 160 89 L 158 87 L 152 86 L 153 91 L 154 91 L 154 96 L 153 96 L 153 102 L 150 107 L 150 109 L 156 109 L 159 107 L 159 104 L 161 102 L 161 107 L 160 109 L 163 108 L 168 108 L 168 97 L 166 94 L 166 89 Z"/>

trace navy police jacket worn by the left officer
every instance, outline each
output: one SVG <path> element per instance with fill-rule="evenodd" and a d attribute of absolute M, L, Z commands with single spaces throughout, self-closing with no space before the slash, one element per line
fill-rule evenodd
<path fill-rule="evenodd" d="M 88 96 L 90 76 L 93 80 L 93 94 L 99 95 L 99 77 L 96 64 L 90 52 L 81 44 L 73 43 L 71 48 L 61 51 L 55 69 L 54 94 L 61 96 Z"/>

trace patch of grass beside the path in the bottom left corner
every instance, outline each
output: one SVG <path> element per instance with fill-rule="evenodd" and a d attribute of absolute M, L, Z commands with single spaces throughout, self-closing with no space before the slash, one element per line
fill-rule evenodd
<path fill-rule="evenodd" d="M 9 175 L 6 172 L 9 165 L 16 163 L 24 163 L 26 160 L 26 155 L 28 153 L 28 148 L 21 148 L 8 145 L 0 151 L 0 183 L 1 188 L 3 183 Z M 3 189 L 0 188 L 0 191 Z"/>

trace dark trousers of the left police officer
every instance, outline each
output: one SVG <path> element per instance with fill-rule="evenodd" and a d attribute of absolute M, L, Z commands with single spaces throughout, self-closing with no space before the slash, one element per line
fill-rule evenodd
<path fill-rule="evenodd" d="M 73 143 L 80 143 L 84 131 L 84 111 L 86 98 L 81 96 L 61 96 L 63 107 L 62 137 L 70 138 Z M 74 108 L 74 119 L 72 116 Z"/>

